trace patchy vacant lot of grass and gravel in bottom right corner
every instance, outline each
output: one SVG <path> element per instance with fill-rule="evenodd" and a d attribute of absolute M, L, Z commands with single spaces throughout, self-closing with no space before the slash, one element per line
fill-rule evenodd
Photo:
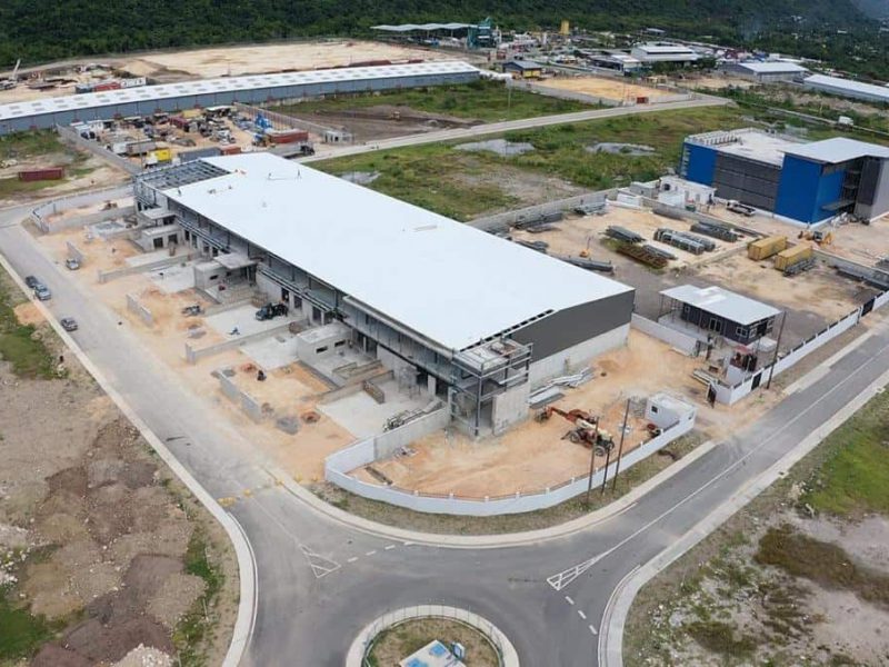
<path fill-rule="evenodd" d="M 889 395 L 880 394 L 646 585 L 625 664 L 881 664 L 888 421 Z"/>

